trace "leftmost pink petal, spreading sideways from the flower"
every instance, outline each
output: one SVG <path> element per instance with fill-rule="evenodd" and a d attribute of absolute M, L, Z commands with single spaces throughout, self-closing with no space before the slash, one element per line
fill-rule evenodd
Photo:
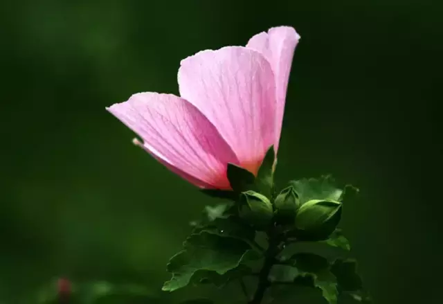
<path fill-rule="evenodd" d="M 238 160 L 188 101 L 171 94 L 137 93 L 108 111 L 143 138 L 147 152 L 184 179 L 205 188 L 230 188 L 226 165 Z"/>

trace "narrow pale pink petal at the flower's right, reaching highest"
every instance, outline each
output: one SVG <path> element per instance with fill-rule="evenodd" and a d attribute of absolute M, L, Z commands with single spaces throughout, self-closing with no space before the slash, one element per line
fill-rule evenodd
<path fill-rule="evenodd" d="M 278 149 L 280 133 L 284 114 L 284 103 L 289 82 L 289 72 L 293 52 L 296 49 L 300 35 L 289 26 L 280 26 L 269 29 L 268 33 L 260 33 L 253 36 L 247 48 L 259 51 L 271 62 L 275 73 L 275 83 L 277 87 L 277 109 L 275 116 L 275 151 Z"/>

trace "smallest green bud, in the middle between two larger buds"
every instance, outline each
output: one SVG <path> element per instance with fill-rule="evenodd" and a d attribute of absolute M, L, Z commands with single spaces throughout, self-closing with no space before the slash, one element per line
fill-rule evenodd
<path fill-rule="evenodd" d="M 293 224 L 300 201 L 293 186 L 284 188 L 274 200 L 277 209 L 277 220 L 282 224 Z"/>

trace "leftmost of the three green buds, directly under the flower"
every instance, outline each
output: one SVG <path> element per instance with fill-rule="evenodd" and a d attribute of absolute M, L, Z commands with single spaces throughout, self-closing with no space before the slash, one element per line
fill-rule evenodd
<path fill-rule="evenodd" d="M 273 206 L 260 193 L 249 190 L 239 199 L 239 216 L 257 230 L 266 230 L 273 217 Z"/>

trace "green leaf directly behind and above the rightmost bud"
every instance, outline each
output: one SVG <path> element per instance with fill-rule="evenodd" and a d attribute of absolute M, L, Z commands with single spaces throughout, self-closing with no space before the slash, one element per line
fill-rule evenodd
<path fill-rule="evenodd" d="M 296 190 L 300 204 L 305 204 L 312 199 L 339 201 L 343 194 L 342 189 L 334 186 L 334 179 L 329 175 L 322 176 L 319 179 L 290 181 L 289 184 Z"/>

